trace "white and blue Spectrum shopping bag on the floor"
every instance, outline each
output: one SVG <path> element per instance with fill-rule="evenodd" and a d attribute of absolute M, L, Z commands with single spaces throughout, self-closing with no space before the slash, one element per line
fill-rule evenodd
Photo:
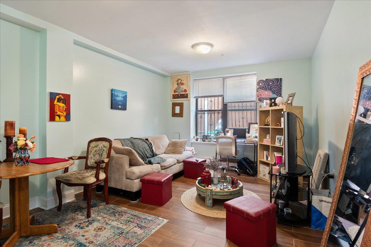
<path fill-rule="evenodd" d="M 312 196 L 311 228 L 324 230 L 332 198 L 326 196 Z"/>

